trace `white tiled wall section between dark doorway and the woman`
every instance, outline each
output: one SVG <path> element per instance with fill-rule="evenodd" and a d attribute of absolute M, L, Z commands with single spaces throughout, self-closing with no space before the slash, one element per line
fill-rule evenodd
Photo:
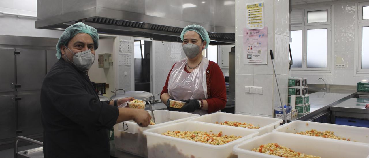
<path fill-rule="evenodd" d="M 166 78 L 173 64 L 186 57 L 182 49 L 182 43 L 152 41 L 153 60 L 155 70 L 153 79 L 155 84 L 154 93 L 161 93 Z"/>

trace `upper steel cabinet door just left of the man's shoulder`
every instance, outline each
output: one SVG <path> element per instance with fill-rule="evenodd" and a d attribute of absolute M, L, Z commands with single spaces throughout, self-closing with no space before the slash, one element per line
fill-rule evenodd
<path fill-rule="evenodd" d="M 46 75 L 46 51 L 43 49 L 17 49 L 17 90 L 41 89 Z"/>

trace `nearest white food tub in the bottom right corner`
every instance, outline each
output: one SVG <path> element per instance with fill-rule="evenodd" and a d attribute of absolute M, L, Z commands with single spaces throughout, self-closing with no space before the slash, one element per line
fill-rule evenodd
<path fill-rule="evenodd" d="M 257 149 L 260 145 L 268 143 L 278 143 L 278 145 L 290 148 L 295 152 L 322 158 L 368 158 L 369 156 L 368 145 L 287 133 L 267 133 L 254 137 L 235 145 L 233 151 L 238 158 L 280 158 L 252 151 L 252 149 Z"/>

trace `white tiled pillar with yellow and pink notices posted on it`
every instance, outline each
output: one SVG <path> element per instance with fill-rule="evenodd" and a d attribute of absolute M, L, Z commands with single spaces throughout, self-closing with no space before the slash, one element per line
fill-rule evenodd
<path fill-rule="evenodd" d="M 273 117 L 273 109 L 280 106 L 272 60 L 268 52 L 268 64 L 243 64 L 243 29 L 246 27 L 246 4 L 254 0 L 236 0 L 236 83 L 235 112 L 238 114 Z M 272 49 L 283 104 L 287 104 L 289 1 L 263 0 L 264 23 L 268 27 L 268 50 Z M 245 94 L 244 86 L 263 87 L 262 95 Z"/>

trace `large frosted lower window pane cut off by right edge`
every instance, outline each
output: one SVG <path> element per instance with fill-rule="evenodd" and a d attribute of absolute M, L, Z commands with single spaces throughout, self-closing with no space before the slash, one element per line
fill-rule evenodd
<path fill-rule="evenodd" d="M 369 69 L 369 27 L 363 27 L 362 32 L 362 58 L 361 58 L 361 68 L 362 69 Z"/>

